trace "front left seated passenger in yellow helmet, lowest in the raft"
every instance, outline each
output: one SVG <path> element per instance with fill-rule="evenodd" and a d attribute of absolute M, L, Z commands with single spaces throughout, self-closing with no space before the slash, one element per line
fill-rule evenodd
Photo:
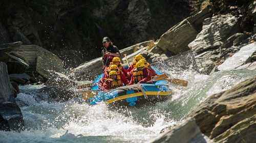
<path fill-rule="evenodd" d="M 118 87 L 122 87 L 123 83 L 121 80 L 117 79 L 117 72 L 116 71 L 110 71 L 109 78 L 105 80 L 105 82 L 102 85 L 102 89 L 104 91 L 112 90 Z"/>

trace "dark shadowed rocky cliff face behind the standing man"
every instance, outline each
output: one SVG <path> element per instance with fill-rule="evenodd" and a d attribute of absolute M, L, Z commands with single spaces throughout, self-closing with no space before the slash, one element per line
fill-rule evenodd
<path fill-rule="evenodd" d="M 166 0 L 24 0 L 0 5 L 0 44 L 42 46 L 75 66 L 100 55 L 104 36 L 120 49 L 156 39 L 195 9 L 190 1 Z"/>

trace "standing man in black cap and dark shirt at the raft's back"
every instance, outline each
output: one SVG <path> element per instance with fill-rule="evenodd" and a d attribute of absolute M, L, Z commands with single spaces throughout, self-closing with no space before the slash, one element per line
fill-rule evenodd
<path fill-rule="evenodd" d="M 103 70 L 106 67 L 109 67 L 110 62 L 112 62 L 115 56 L 120 57 L 119 49 L 113 45 L 109 37 L 104 37 L 102 40 L 103 48 L 102 48 L 102 62 L 103 62 Z"/>

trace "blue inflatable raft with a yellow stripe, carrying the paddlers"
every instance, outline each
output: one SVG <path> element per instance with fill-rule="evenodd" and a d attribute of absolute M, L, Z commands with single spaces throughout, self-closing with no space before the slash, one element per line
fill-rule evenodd
<path fill-rule="evenodd" d="M 158 74 L 161 74 L 156 70 Z M 103 74 L 99 75 L 93 82 L 98 83 Z M 113 106 L 137 106 L 147 103 L 156 103 L 165 101 L 172 94 L 168 88 L 168 82 L 159 80 L 152 84 L 141 83 L 119 87 L 108 92 L 99 91 L 98 85 L 92 87 L 96 92 L 95 96 L 86 95 L 87 102 L 95 105 L 105 102 Z"/>

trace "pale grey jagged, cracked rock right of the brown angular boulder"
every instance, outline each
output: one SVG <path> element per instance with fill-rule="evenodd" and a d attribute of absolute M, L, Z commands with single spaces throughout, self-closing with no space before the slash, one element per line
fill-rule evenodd
<path fill-rule="evenodd" d="M 196 52 L 219 48 L 229 36 L 238 32 L 239 24 L 236 17 L 232 15 L 216 15 L 204 20 L 202 31 L 194 41 L 188 44 L 188 47 Z"/>

